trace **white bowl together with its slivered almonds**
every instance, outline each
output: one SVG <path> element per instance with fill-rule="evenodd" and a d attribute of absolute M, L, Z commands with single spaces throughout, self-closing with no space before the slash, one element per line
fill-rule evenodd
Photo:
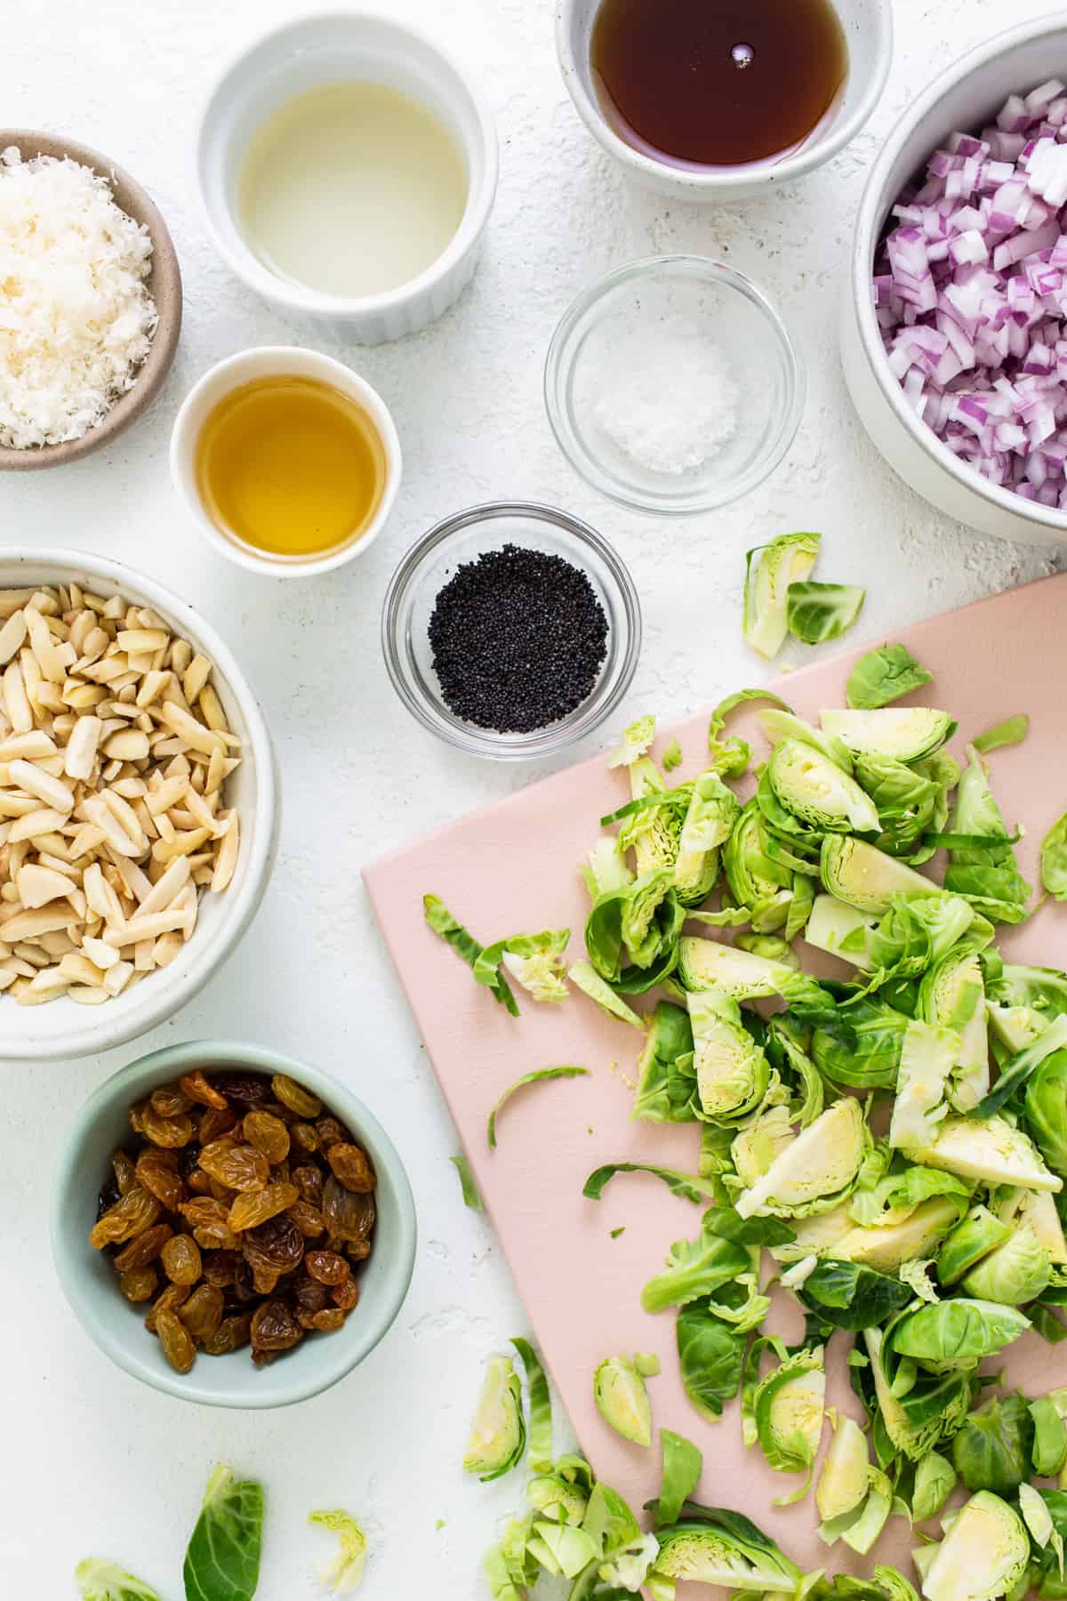
<path fill-rule="evenodd" d="M 262 712 L 190 605 L 118 562 L 3 552 L 0 1060 L 176 1012 L 259 906 L 277 821 Z"/>

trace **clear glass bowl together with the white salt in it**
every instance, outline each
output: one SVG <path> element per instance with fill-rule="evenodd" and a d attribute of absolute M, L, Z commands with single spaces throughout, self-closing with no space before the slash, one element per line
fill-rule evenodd
<path fill-rule="evenodd" d="M 622 506 L 693 516 L 761 484 L 793 442 L 800 357 L 755 283 L 704 256 L 651 256 L 582 290 L 544 371 L 557 442 Z"/>

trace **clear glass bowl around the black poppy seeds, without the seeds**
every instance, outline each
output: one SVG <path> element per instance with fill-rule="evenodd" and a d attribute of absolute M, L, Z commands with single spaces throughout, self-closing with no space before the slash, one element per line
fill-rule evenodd
<path fill-rule="evenodd" d="M 608 618 L 606 656 L 595 687 L 566 717 L 533 733 L 496 733 L 456 717 L 445 704 L 432 663 L 429 623 L 440 591 L 461 564 L 502 544 L 561 556 L 581 568 Z M 397 567 L 382 608 L 386 668 L 411 716 L 456 749 L 501 762 L 555 756 L 598 728 L 630 687 L 640 650 L 637 589 L 608 541 L 577 517 L 528 501 L 472 506 L 438 522 Z"/>

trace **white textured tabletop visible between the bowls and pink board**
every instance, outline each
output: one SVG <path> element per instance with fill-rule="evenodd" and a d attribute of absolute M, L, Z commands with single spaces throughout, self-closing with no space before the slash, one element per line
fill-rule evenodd
<path fill-rule="evenodd" d="M 1046 0 L 1016 0 L 1014 11 L 1045 8 Z M 85 139 L 152 191 L 182 261 L 186 331 L 162 399 L 114 447 L 56 472 L 0 479 L 0 538 L 114 552 L 195 600 L 262 696 L 285 792 L 264 909 L 203 996 L 139 1047 L 6 1076 L 5 1595 L 62 1598 L 75 1561 L 94 1551 L 176 1596 L 184 1540 L 216 1460 L 267 1486 L 262 1601 L 314 1593 L 310 1569 L 326 1535 L 302 1524 L 322 1505 L 366 1521 L 368 1601 L 408 1601 L 430 1588 L 442 1601 L 482 1595 L 478 1555 L 522 1484 L 483 1489 L 464 1481 L 458 1460 L 480 1361 L 522 1330 L 523 1314 L 486 1225 L 459 1202 L 446 1161 L 454 1135 L 378 948 L 360 865 L 534 775 L 446 751 L 392 695 L 379 608 L 392 565 L 418 533 L 496 496 L 555 501 L 605 530 L 645 602 L 633 712 L 685 712 L 765 676 L 739 639 L 742 552 L 785 528 L 824 532 L 819 576 L 869 586 L 859 623 L 867 637 L 1056 567 L 1054 554 L 947 525 L 904 490 L 861 435 L 835 349 L 865 165 L 917 86 L 1001 24 L 997 0 L 897 0 L 897 59 L 870 128 L 795 189 L 736 211 L 664 205 L 624 186 L 565 96 L 544 0 L 392 0 L 389 10 L 435 27 L 485 75 L 502 141 L 498 207 L 475 283 L 437 328 L 374 351 L 330 346 L 394 407 L 406 480 L 363 562 L 275 583 L 230 567 L 189 525 L 170 488 L 166 440 L 205 367 L 248 344 L 302 338 L 227 277 L 192 194 L 195 115 L 216 64 L 294 8 L 283 0 L 5 6 L 5 120 Z M 625 516 L 585 492 L 541 407 L 544 349 L 569 298 L 611 266 L 675 248 L 721 256 L 763 283 L 809 367 L 805 423 L 774 479 L 744 504 L 681 525 Z M 208 1034 L 307 1053 L 350 1082 L 392 1130 L 419 1204 L 419 1263 L 392 1337 L 339 1388 L 290 1412 L 213 1414 L 141 1388 L 74 1322 L 46 1250 L 48 1177 L 72 1108 L 141 1049 Z M 547 1241 L 545 1271 L 550 1262 Z"/>

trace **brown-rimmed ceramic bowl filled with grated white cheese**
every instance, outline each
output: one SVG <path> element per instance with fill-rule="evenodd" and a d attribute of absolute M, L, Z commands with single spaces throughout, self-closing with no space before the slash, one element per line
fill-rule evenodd
<path fill-rule="evenodd" d="M 69 139 L 0 128 L 0 472 L 128 427 L 181 331 L 181 272 L 139 184 Z"/>

